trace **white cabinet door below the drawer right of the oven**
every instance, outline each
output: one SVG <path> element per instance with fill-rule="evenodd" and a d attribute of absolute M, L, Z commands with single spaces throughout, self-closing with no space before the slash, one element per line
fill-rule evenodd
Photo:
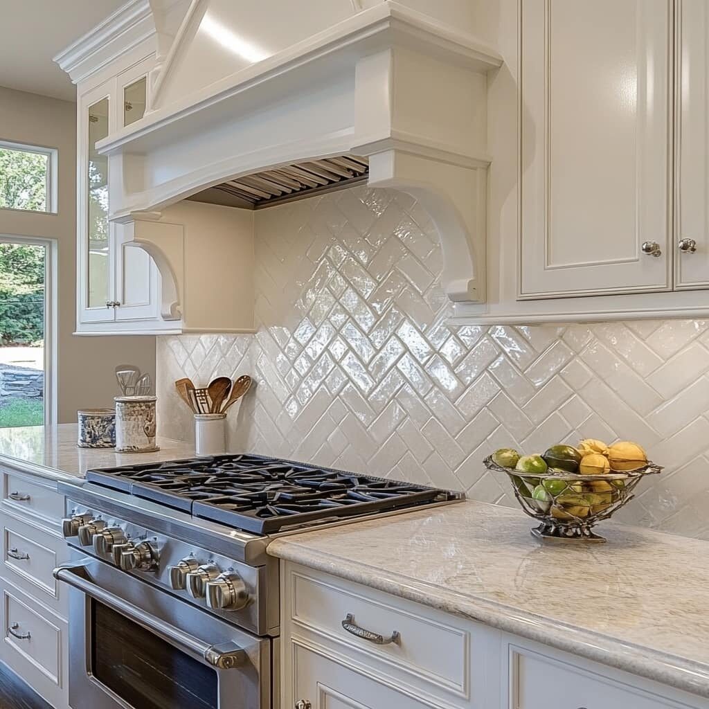
<path fill-rule="evenodd" d="M 294 703 L 307 700 L 313 709 L 425 709 L 413 699 L 359 672 L 304 647 L 291 644 Z"/>

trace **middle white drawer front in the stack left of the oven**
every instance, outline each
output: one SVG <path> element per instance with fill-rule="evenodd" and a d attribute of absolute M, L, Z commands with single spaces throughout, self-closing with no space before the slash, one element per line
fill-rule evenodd
<path fill-rule="evenodd" d="M 9 515 L 6 517 L 0 574 L 36 600 L 49 603 L 60 611 L 65 610 L 64 604 L 60 604 L 64 589 L 52 576 L 52 571 L 68 558 L 69 550 L 64 540 Z"/>

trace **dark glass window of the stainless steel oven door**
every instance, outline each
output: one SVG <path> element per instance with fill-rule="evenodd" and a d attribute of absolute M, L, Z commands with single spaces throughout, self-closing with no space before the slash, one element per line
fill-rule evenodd
<path fill-rule="evenodd" d="M 91 601 L 91 674 L 135 709 L 218 709 L 218 676 L 140 625 Z"/>

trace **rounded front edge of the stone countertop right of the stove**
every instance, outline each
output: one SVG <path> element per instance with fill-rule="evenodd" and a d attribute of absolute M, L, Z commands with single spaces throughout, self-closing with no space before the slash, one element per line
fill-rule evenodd
<path fill-rule="evenodd" d="M 392 596 L 427 605 L 495 627 L 527 640 L 578 655 L 584 659 L 620 669 L 654 682 L 671 686 L 702 698 L 709 698 L 709 668 L 683 657 L 629 644 L 588 630 L 579 630 L 553 618 L 542 618 L 520 608 L 471 596 L 446 592 L 442 588 L 412 581 L 406 576 L 389 578 L 375 567 L 347 562 L 325 552 L 315 552 L 286 538 L 276 539 L 267 548 L 272 557 L 301 564 L 316 571 L 369 586 Z M 420 584 L 417 587 L 416 584 Z M 428 588 L 427 588 L 428 586 Z"/>

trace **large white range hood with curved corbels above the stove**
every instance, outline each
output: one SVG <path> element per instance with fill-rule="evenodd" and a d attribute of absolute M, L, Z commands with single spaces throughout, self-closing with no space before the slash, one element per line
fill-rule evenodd
<path fill-rule="evenodd" d="M 484 302 L 486 74 L 501 57 L 404 4 L 369 4 L 151 0 L 147 111 L 98 147 L 111 219 L 160 267 L 166 317 L 184 288 L 171 205 L 259 209 L 364 180 L 418 199 L 448 296 Z"/>

